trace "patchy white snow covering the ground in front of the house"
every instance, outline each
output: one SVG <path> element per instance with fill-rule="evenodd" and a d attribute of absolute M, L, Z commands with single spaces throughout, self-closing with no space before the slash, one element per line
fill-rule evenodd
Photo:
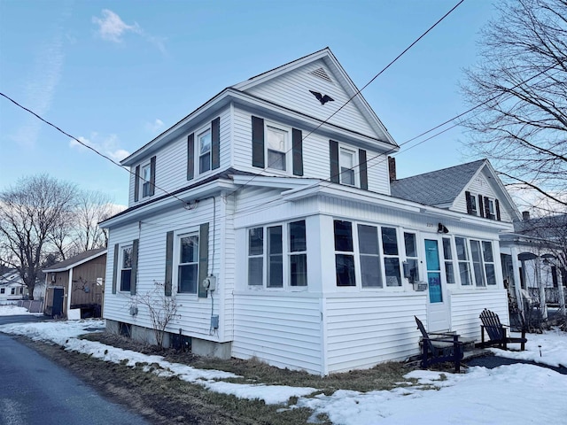
<path fill-rule="evenodd" d="M 317 391 L 315 388 L 226 383 L 223 379 L 235 375 L 196 369 L 168 362 L 161 356 L 147 356 L 76 337 L 104 327 L 105 322 L 99 320 L 46 321 L 4 325 L 0 326 L 0 331 L 60 344 L 66 350 L 84 352 L 105 361 L 127 360 L 129 366 L 143 367 L 148 373 L 177 375 L 208 390 L 238 398 L 260 398 L 268 404 L 285 405 L 291 396 L 297 396 L 297 405 L 283 408 L 306 406 L 314 410 L 314 421 L 317 413 L 326 413 L 337 425 L 567 422 L 567 375 L 545 367 L 526 364 L 494 369 L 470 367 L 459 375 L 417 370 L 406 375 L 407 379 L 415 378 L 417 383 L 400 383 L 394 390 L 338 390 L 330 396 L 310 397 Z M 567 334 L 559 331 L 530 334 L 525 352 L 496 349 L 494 352 L 514 359 L 567 367 Z"/>

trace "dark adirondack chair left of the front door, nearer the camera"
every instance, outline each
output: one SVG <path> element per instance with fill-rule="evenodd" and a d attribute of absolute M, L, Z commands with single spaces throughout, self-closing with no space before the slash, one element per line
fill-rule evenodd
<path fill-rule="evenodd" d="M 430 332 L 428 333 L 417 316 L 417 328 L 422 333 L 422 367 L 429 367 L 434 363 L 451 361 L 454 363 L 454 371 L 461 371 L 462 342 L 456 334 Z"/>

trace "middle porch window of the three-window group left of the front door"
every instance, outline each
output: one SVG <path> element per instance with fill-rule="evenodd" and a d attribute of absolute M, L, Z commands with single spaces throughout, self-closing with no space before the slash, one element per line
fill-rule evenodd
<path fill-rule="evenodd" d="M 358 250 L 362 288 L 382 288 L 378 230 L 375 226 L 358 225 Z"/>

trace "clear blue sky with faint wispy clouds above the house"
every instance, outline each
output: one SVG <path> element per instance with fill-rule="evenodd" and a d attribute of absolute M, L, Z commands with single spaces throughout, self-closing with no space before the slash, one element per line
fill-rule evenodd
<path fill-rule="evenodd" d="M 361 88 L 457 0 L 0 0 L 0 91 L 116 159 L 221 89 L 329 46 Z M 398 143 L 467 109 L 488 0 L 467 0 L 362 92 Z M 474 158 L 455 128 L 397 157 L 398 176 Z M 48 173 L 126 205 L 128 173 L 0 97 L 0 190 Z"/>

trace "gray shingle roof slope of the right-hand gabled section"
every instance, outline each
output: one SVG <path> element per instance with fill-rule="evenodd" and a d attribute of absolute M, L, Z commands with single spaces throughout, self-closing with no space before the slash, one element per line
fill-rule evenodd
<path fill-rule="evenodd" d="M 423 205 L 447 205 L 462 192 L 462 189 L 485 164 L 485 159 L 451 166 L 431 173 L 414 175 L 395 180 L 390 188 L 392 197 L 400 197 Z"/>

